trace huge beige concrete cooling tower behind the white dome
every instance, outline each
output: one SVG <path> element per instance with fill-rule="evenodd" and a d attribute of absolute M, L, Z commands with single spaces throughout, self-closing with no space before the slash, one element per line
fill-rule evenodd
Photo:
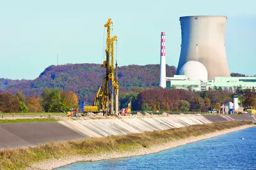
<path fill-rule="evenodd" d="M 186 62 L 194 60 L 207 69 L 208 80 L 215 76 L 230 76 L 225 51 L 227 17 L 180 17 L 181 49 L 177 74 Z M 197 69 L 197 67 L 194 67 Z"/>

